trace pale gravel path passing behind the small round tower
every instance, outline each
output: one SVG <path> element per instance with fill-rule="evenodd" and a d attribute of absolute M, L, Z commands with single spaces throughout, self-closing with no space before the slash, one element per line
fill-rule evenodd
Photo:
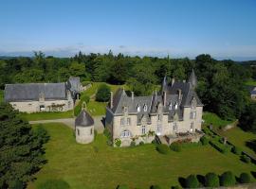
<path fill-rule="evenodd" d="M 103 115 L 94 116 L 94 128 L 102 133 L 104 126 L 102 123 Z M 63 119 L 49 119 L 49 120 L 38 120 L 38 121 L 29 121 L 29 124 L 46 124 L 46 123 L 63 123 L 71 129 L 75 129 L 75 118 L 63 118 Z"/>

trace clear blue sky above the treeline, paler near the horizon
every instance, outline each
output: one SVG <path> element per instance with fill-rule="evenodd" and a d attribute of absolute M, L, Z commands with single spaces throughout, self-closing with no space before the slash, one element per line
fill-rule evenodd
<path fill-rule="evenodd" d="M 256 60 L 256 0 L 0 0 L 0 56 Z"/>

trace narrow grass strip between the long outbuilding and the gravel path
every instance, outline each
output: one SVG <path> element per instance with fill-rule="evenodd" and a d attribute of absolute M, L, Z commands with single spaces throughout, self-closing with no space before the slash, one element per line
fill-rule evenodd
<path fill-rule="evenodd" d="M 62 119 L 73 117 L 73 111 L 21 113 L 21 116 L 25 118 L 27 121 L 36 121 L 44 119 Z"/>

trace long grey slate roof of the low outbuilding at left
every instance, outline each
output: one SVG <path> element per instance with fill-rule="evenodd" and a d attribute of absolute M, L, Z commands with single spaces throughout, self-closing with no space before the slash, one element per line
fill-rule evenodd
<path fill-rule="evenodd" d="M 66 99 L 65 83 L 6 84 L 5 87 L 7 102 L 39 100 L 42 94 L 45 100 Z"/>

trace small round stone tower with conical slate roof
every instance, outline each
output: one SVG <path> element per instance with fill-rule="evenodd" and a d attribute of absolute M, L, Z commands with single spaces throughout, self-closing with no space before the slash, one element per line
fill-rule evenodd
<path fill-rule="evenodd" d="M 94 139 L 94 120 L 92 116 L 82 109 L 82 112 L 75 120 L 76 141 L 81 144 L 88 144 Z"/>

